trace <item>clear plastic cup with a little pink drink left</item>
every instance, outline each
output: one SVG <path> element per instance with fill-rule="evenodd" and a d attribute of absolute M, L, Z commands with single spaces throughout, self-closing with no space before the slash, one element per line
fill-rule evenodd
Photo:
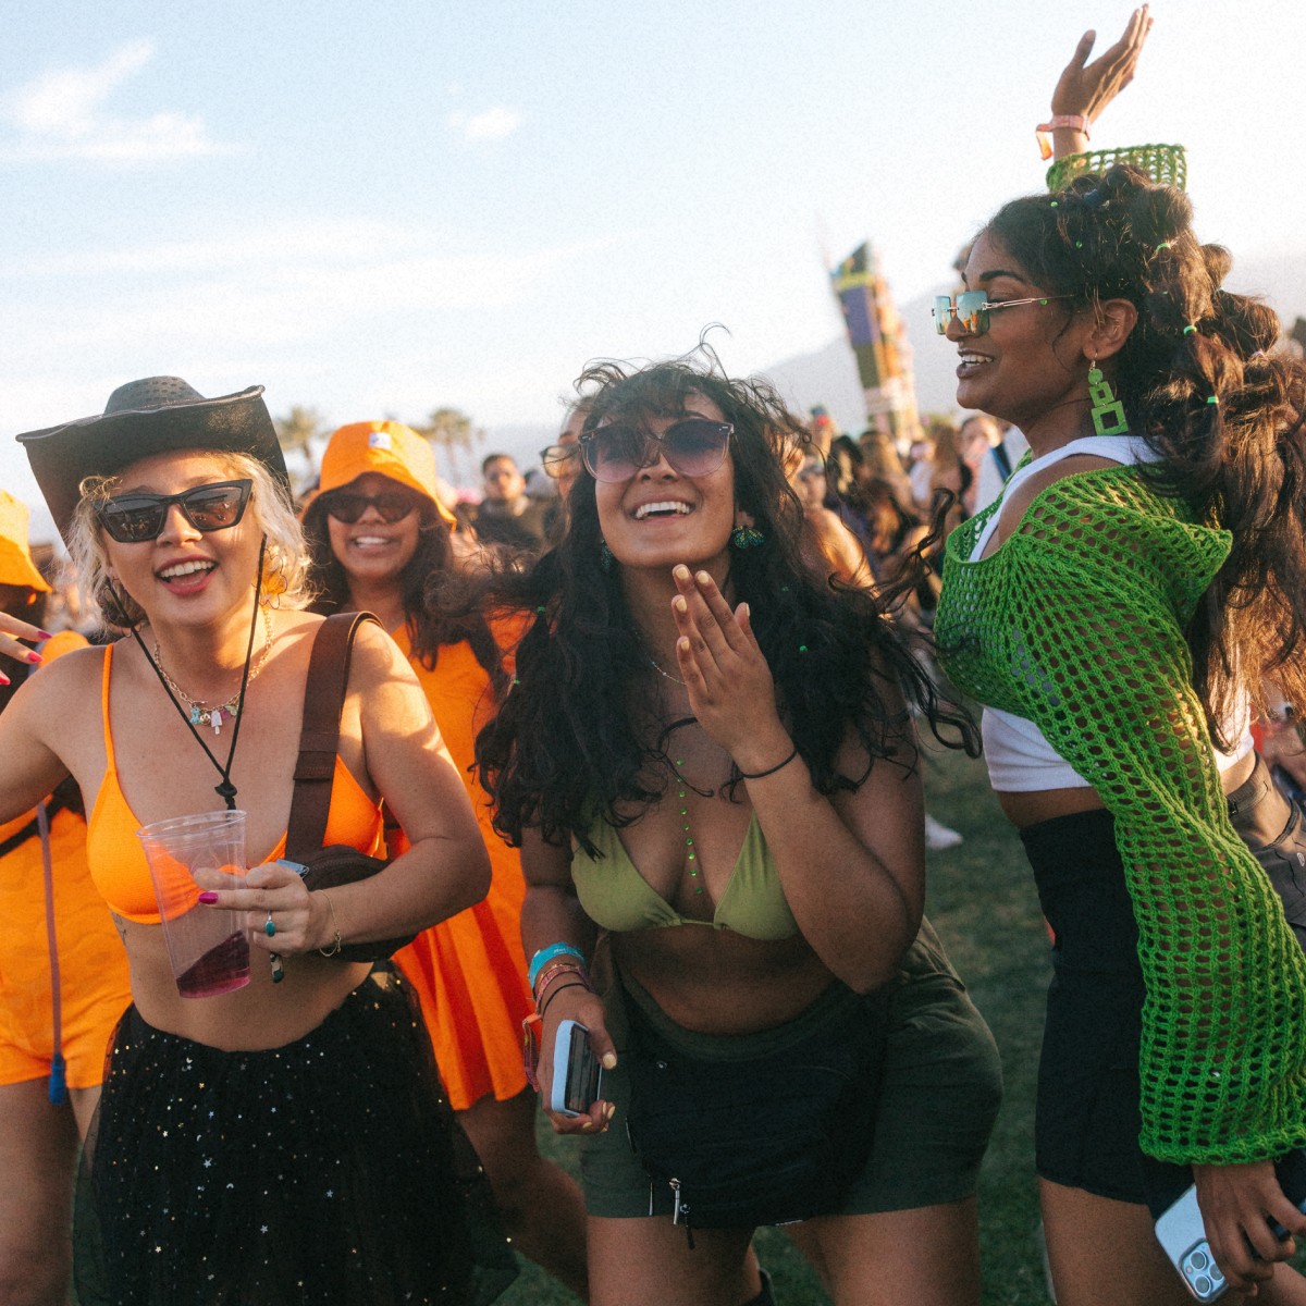
<path fill-rule="evenodd" d="M 205 906 L 206 889 L 239 888 L 244 879 L 246 814 L 199 812 L 157 820 L 136 832 L 145 846 L 163 938 L 183 998 L 212 998 L 249 982 L 243 912 Z"/>

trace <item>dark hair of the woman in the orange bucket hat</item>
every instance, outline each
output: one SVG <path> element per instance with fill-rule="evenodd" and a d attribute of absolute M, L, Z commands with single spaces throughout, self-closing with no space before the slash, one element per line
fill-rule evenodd
<path fill-rule="evenodd" d="M 319 596 L 311 610 L 330 615 L 349 610 L 349 576 L 332 552 L 323 502 L 325 498 L 326 495 L 319 495 L 308 505 L 303 526 L 311 559 L 308 580 Z M 423 502 L 421 512 L 422 525 L 417 551 L 400 572 L 413 657 L 427 670 L 434 670 L 441 646 L 466 640 L 490 677 L 495 695 L 503 695 L 508 688 L 508 673 L 504 670 L 503 653 L 485 616 L 474 609 L 451 614 L 443 611 L 438 603 L 427 602 L 427 589 L 431 582 L 453 567 L 453 545 L 449 542 L 449 526 L 435 508 Z"/>

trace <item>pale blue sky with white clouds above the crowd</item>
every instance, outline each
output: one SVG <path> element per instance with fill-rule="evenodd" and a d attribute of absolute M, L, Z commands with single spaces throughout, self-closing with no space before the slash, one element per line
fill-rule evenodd
<path fill-rule="evenodd" d="M 840 330 L 823 260 L 870 236 L 900 302 L 944 282 L 1040 188 L 1032 129 L 1080 31 L 1101 48 L 1128 12 L 29 5 L 0 48 L 0 481 L 33 498 L 12 435 L 157 372 L 492 431 L 555 422 L 585 359 L 680 353 L 710 321 L 733 371 L 818 349 Z M 1199 231 L 1299 256 L 1306 5 L 1155 13 L 1094 144 L 1185 141 Z"/>

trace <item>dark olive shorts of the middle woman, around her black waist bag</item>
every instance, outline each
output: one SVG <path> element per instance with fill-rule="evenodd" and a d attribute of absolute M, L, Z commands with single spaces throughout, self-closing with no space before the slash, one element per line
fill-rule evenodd
<path fill-rule="evenodd" d="M 804 1021 L 825 1019 L 832 1003 L 857 1000 L 836 982 L 782 1029 L 791 1032 Z M 585 1207 L 594 1216 L 648 1216 L 654 1213 L 649 1209 L 649 1177 L 624 1126 L 631 1092 L 620 1063 L 628 1037 L 624 1003 L 637 1003 L 657 1032 L 686 1055 L 726 1040 L 674 1024 L 628 977 L 614 983 L 605 1002 L 618 1066 L 605 1071 L 602 1093 L 615 1104 L 616 1114 L 606 1134 L 581 1139 Z M 993 1036 L 927 921 L 888 993 L 887 1023 L 870 1160 L 845 1195 L 840 1215 L 910 1211 L 973 1196 L 1002 1100 L 1002 1066 Z M 781 1046 L 776 1033 L 729 1036 L 727 1042 L 744 1055 L 763 1055 Z M 875 1092 L 875 1085 L 868 1084 L 867 1091 Z M 764 1117 L 757 1127 L 767 1127 Z"/>

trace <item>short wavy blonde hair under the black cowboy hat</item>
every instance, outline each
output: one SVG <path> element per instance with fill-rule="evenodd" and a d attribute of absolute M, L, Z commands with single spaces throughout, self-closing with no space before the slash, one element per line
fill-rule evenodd
<path fill-rule="evenodd" d="M 247 453 L 226 449 L 193 452 L 212 457 L 225 475 L 253 482 L 246 512 L 253 515 L 255 524 L 268 541 L 260 577 L 260 602 L 277 607 L 307 607 L 315 597 L 308 585 L 308 550 L 286 491 L 265 464 Z M 121 475 L 86 477 L 82 481 L 78 486 L 81 499 L 68 528 L 68 552 L 88 614 L 103 618 L 112 626 L 128 627 L 142 620 L 145 611 L 110 579 L 104 537 L 95 515 L 121 483 Z"/>

